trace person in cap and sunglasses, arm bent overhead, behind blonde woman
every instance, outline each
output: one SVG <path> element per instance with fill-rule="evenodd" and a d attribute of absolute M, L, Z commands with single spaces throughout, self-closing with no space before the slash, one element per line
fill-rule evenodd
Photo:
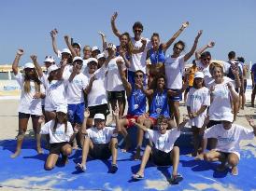
<path fill-rule="evenodd" d="M 205 75 L 205 85 L 208 87 L 208 83 L 212 81 L 211 74 L 209 72 L 209 65 L 211 62 L 211 53 L 209 51 L 205 51 L 206 48 L 213 48 L 215 46 L 215 42 L 210 41 L 204 47 L 199 48 L 195 51 L 195 63 L 197 67 L 197 71 L 203 72 Z"/>

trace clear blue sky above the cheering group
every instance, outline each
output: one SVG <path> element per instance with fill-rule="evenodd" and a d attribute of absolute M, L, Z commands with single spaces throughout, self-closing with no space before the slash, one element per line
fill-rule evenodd
<path fill-rule="evenodd" d="M 132 26 L 139 20 L 144 25 L 144 37 L 156 32 L 164 43 L 188 20 L 190 26 L 177 39 L 186 43 L 185 52 L 203 30 L 197 48 L 215 41 L 216 46 L 208 49 L 213 59 L 226 61 L 228 52 L 234 50 L 247 62 L 256 62 L 255 0 L 8 0 L 0 3 L 0 64 L 12 63 L 18 48 L 25 51 L 21 65 L 31 61 L 32 54 L 42 63 L 46 55 L 54 55 L 50 38 L 54 28 L 59 31 L 59 49 L 65 48 L 65 34 L 82 47 L 101 48 L 99 31 L 107 35 L 107 42 L 118 45 L 110 26 L 115 11 L 121 33 L 134 36 Z M 167 53 L 172 53 L 172 48 Z"/>

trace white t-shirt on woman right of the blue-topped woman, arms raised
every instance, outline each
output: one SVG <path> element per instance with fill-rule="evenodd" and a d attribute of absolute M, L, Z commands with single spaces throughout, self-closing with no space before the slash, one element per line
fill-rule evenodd
<path fill-rule="evenodd" d="M 168 55 L 164 61 L 167 89 L 182 88 L 182 74 L 185 69 L 184 55 L 172 58 Z"/>

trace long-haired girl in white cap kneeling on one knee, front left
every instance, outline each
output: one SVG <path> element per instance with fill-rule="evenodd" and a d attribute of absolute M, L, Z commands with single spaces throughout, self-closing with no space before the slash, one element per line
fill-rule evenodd
<path fill-rule="evenodd" d="M 67 121 L 67 109 L 64 105 L 60 105 L 56 110 L 56 117 L 45 123 L 41 128 L 40 134 L 50 135 L 50 154 L 45 162 L 45 170 L 52 170 L 56 162 L 62 154 L 62 162 L 68 162 L 68 156 L 72 154 L 70 142 L 75 138 L 78 129 L 72 128 L 70 122 Z M 43 123 L 41 118 L 39 123 Z"/>

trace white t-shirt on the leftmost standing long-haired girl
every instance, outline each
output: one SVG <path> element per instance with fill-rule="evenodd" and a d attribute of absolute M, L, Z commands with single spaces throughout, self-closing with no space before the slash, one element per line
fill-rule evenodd
<path fill-rule="evenodd" d="M 21 102 L 19 104 L 18 112 L 24 114 L 31 114 L 36 116 L 42 115 L 42 99 L 34 99 L 33 96 L 36 94 L 36 86 L 34 81 L 30 81 L 30 91 L 25 92 L 24 77 L 19 72 L 14 76 L 18 84 L 21 86 Z M 40 92 L 45 93 L 43 84 L 40 84 Z M 3 109 L 3 108 L 2 108 Z"/>

